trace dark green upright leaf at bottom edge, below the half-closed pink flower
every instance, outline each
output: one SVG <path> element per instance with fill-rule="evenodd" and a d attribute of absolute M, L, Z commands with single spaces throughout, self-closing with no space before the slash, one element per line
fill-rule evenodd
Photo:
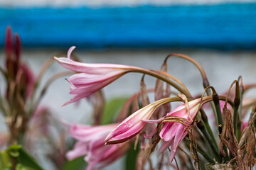
<path fill-rule="evenodd" d="M 138 142 L 136 149 L 134 150 L 134 145 L 127 151 L 125 157 L 125 169 L 126 170 L 135 170 L 136 169 L 136 160 L 137 155 L 139 154 L 140 142 Z"/>

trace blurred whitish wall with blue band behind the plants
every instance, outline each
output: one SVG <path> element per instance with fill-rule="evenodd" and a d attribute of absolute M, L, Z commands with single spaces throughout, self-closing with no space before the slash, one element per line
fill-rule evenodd
<path fill-rule="evenodd" d="M 77 47 L 73 54 L 82 62 L 146 69 L 159 69 L 166 55 L 178 52 L 201 63 L 210 84 L 222 93 L 240 75 L 245 83 L 256 82 L 255 18 L 256 1 L 0 0 L 1 64 L 6 26 L 11 26 L 21 36 L 23 60 L 36 73 L 48 57 L 66 53 L 73 45 Z M 43 81 L 60 70 L 65 69 L 56 62 Z M 191 94 L 202 93 L 201 75 L 193 64 L 171 58 L 169 72 Z M 64 78 L 50 86 L 43 103 L 70 123 L 90 123 L 92 108 L 86 101 L 79 107 L 61 107 L 72 97 Z M 141 78 L 141 74 L 125 75 L 104 89 L 105 97 L 134 94 Z M 155 79 L 146 77 L 146 84 L 153 87 Z"/>

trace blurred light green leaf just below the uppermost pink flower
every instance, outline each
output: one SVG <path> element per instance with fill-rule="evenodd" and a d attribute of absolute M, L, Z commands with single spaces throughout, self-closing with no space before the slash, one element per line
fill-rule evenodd
<path fill-rule="evenodd" d="M 107 101 L 105 105 L 105 110 L 102 115 L 102 125 L 106 125 L 113 122 L 117 113 L 121 111 L 122 106 L 124 106 L 124 103 L 127 101 L 127 99 L 127 97 L 118 97 L 112 98 L 110 101 Z"/>

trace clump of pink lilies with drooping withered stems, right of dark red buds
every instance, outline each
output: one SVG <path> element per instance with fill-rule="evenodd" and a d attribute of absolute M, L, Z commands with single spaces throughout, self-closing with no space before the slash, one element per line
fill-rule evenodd
<path fill-rule="evenodd" d="M 254 84 L 243 85 L 240 77 L 238 81 L 233 82 L 236 85 L 235 90 L 231 89 L 232 84 L 228 94 L 218 96 L 215 89 L 209 86 L 206 74 L 198 62 L 186 55 L 169 55 L 168 57 L 177 56 L 191 61 L 201 71 L 203 86 L 206 88 L 205 91 L 208 96 L 204 96 L 203 93 L 201 98 L 193 99 L 186 86 L 167 72 L 166 61 L 168 57 L 164 61 L 162 69 L 157 71 L 120 64 L 85 64 L 75 62 L 70 57 L 74 49 L 75 47 L 70 47 L 68 58 L 55 57 L 55 60 L 63 67 L 78 72 L 68 80 L 70 82 L 70 94 L 75 96 L 64 105 L 79 101 L 81 98 L 86 98 L 96 91 L 100 91 L 100 89 L 112 83 L 112 81 L 119 79 L 119 77 L 129 72 L 138 72 L 156 77 L 155 96 L 157 97 L 156 101 L 149 103 L 147 91 L 150 90 L 146 89 L 142 78 L 142 88 L 137 94 L 138 98 L 142 96 L 142 108 L 139 109 L 137 107 L 137 111 L 135 110 L 134 113 L 124 118 L 121 123 L 94 126 L 68 125 L 68 132 L 78 140 L 73 151 L 68 152 L 68 159 L 86 155 L 85 161 L 89 164 L 87 169 L 92 169 L 95 165 L 98 167 L 105 166 L 127 152 L 132 141 L 135 140 L 135 145 L 137 145 L 140 139 L 141 149 L 139 155 L 144 155 L 144 157 L 139 158 L 138 156 L 137 164 L 142 164 L 141 167 L 143 168 L 146 162 L 150 162 L 150 154 L 159 142 L 161 142 L 159 153 L 163 153 L 166 149 L 171 148 L 169 149 L 169 162 L 173 162 L 178 148 L 181 147 L 181 142 L 186 137 L 185 143 L 188 144 L 187 147 L 189 152 L 191 152 L 191 158 L 194 159 L 194 165 L 184 163 L 183 168 L 192 168 L 192 166 L 196 166 L 196 169 L 204 168 L 205 166 L 202 166 L 200 162 L 210 163 L 210 168 L 213 169 L 220 166 L 220 164 L 226 163 L 229 163 L 227 166 L 235 166 L 241 169 L 254 166 L 255 152 L 249 152 L 245 147 L 255 147 L 255 135 L 252 135 L 254 142 L 248 143 L 246 141 L 248 134 L 255 132 L 253 120 L 255 117 L 256 100 L 255 98 L 252 98 L 250 101 L 247 100 L 246 106 L 245 103 L 240 102 L 240 98 L 242 98 L 245 91 L 255 87 Z M 167 84 L 166 89 L 164 89 L 163 82 Z M 178 97 L 170 97 L 171 91 L 169 91 L 169 86 L 174 86 L 181 94 L 178 94 Z M 210 89 L 212 89 L 213 94 L 210 93 Z M 168 105 L 173 101 L 183 101 L 184 103 L 171 111 Z M 243 101 L 246 101 L 246 99 Z M 213 134 L 212 128 L 208 123 L 208 116 L 203 111 L 205 109 L 205 107 L 202 107 L 203 104 L 208 102 L 211 102 L 213 108 L 213 115 L 217 124 L 215 125 L 215 130 L 218 130 L 219 137 Z M 129 104 L 132 106 L 131 100 L 127 101 L 124 109 L 129 110 L 129 107 L 127 107 Z M 138 103 L 136 104 L 139 106 Z M 245 117 L 245 113 L 242 113 L 242 108 L 250 107 L 252 107 L 250 123 L 247 123 L 248 121 L 242 123 L 242 118 Z M 206 109 L 208 108 L 206 107 Z M 221 112 L 222 109 L 223 112 Z M 233 111 L 233 121 L 228 117 L 230 111 Z M 120 115 L 122 117 L 122 113 Z M 245 131 L 245 129 L 250 130 Z M 150 132 L 150 134 L 146 135 L 146 132 Z M 196 140 L 198 138 L 196 135 L 199 136 L 198 141 Z M 146 139 L 149 140 L 148 144 L 145 143 Z M 202 141 L 200 140 L 208 142 L 208 144 L 201 147 L 199 144 Z M 212 155 L 208 154 L 208 152 Z M 190 160 L 191 158 L 186 159 Z M 161 159 L 160 162 L 163 162 L 163 160 Z"/>

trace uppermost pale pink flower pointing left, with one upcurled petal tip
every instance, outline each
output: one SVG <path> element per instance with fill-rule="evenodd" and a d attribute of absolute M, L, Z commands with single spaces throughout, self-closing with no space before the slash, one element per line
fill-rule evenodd
<path fill-rule="evenodd" d="M 70 94 L 75 94 L 75 97 L 64 103 L 63 106 L 90 96 L 112 83 L 112 81 L 122 77 L 122 75 L 127 72 L 140 69 L 139 67 L 121 64 L 87 64 L 75 62 L 70 59 L 71 52 L 74 49 L 74 46 L 70 47 L 68 50 L 68 58 L 55 57 L 55 60 L 57 60 L 63 67 L 75 72 L 80 72 L 80 74 L 75 74 L 70 77 Z"/>

